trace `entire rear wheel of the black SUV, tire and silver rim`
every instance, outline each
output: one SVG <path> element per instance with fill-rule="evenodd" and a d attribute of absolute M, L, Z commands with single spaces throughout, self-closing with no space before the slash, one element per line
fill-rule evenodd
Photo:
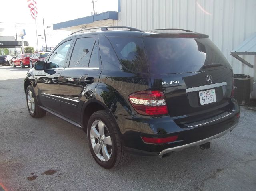
<path fill-rule="evenodd" d="M 103 128 L 101 129 L 103 131 L 100 131 L 99 127 L 102 127 L 102 125 Z M 124 151 L 118 134 L 118 126 L 114 122 L 113 117 L 105 110 L 92 114 L 88 121 L 87 137 L 90 152 L 100 166 L 105 169 L 111 169 L 128 162 L 130 154 Z M 106 144 L 106 142 L 108 143 Z M 103 154 L 103 150 L 107 151 L 104 152 L 105 155 Z"/>

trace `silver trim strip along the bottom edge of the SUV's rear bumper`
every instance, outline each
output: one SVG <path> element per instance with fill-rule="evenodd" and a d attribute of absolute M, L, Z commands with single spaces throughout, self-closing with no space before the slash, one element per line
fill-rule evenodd
<path fill-rule="evenodd" d="M 237 123 L 235 125 L 233 125 L 232 127 L 230 127 L 229 129 L 227 129 L 227 130 L 225 130 L 225 131 L 223 131 L 223 132 L 221 132 L 219 134 L 216 134 L 214 136 L 208 137 L 206 139 L 199 140 L 199 141 L 196 141 L 196 142 L 193 142 L 193 143 L 189 143 L 189 144 L 186 144 L 186 145 L 181 145 L 181 146 L 177 146 L 177 147 L 173 147 L 173 148 L 168 148 L 168 149 L 162 150 L 160 152 L 159 156 L 162 156 L 163 154 L 166 154 L 166 153 L 169 153 L 169 152 L 173 152 L 173 151 L 180 151 L 180 150 L 188 148 L 188 147 L 202 145 L 204 143 L 209 142 L 212 139 L 216 139 L 216 138 L 219 138 L 219 137 L 223 136 L 227 132 L 233 130 L 236 126 L 237 126 Z"/>

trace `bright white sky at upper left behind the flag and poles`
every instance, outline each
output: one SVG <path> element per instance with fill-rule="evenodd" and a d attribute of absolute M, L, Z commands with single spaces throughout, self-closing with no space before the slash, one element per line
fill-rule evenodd
<path fill-rule="evenodd" d="M 95 0 L 94 0 L 95 1 Z M 62 39 L 70 34 L 69 31 L 52 30 L 52 24 L 64 22 L 76 18 L 82 18 L 91 15 L 92 0 L 36 0 L 38 8 L 37 22 L 37 34 L 44 35 L 43 21 L 45 25 L 46 40 L 48 47 L 56 46 Z M 1 16 L 0 16 L 0 28 L 4 28 L 0 35 L 2 36 L 16 36 L 15 24 L 17 26 L 17 39 L 20 32 L 25 29 L 26 36 L 24 41 L 28 41 L 29 46 L 36 49 L 36 28 L 35 20 L 30 14 L 27 0 L 4 0 L 1 2 Z M 102 13 L 106 11 L 117 11 L 118 0 L 97 0 L 94 3 L 95 12 Z M 51 26 L 48 29 L 46 26 Z M 45 47 L 44 39 L 42 36 L 38 36 L 39 49 Z"/>

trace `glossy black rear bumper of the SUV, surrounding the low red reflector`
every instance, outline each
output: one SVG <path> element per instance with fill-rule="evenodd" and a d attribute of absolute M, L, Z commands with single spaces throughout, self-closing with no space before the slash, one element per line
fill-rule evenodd
<path fill-rule="evenodd" d="M 122 143 L 127 152 L 142 156 L 161 156 L 168 152 L 204 144 L 233 130 L 239 121 L 237 114 L 240 112 L 240 108 L 236 101 L 232 104 L 232 114 L 192 128 L 181 128 L 170 116 L 146 118 L 116 115 L 116 120 L 120 128 Z M 142 136 L 164 138 L 177 135 L 178 139 L 175 142 L 167 144 L 147 144 L 141 138 Z"/>

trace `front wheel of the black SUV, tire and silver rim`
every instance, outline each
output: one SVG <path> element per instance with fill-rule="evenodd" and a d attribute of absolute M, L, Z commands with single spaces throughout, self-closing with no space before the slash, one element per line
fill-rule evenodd
<path fill-rule="evenodd" d="M 46 114 L 46 111 L 41 109 L 38 106 L 38 102 L 36 100 L 36 96 L 34 93 L 34 88 L 32 85 L 29 85 L 27 90 L 26 90 L 26 100 L 27 100 L 27 107 L 28 107 L 28 112 L 30 116 L 34 118 L 39 118 L 43 117 Z M 34 104 L 34 107 L 32 106 Z M 32 109 L 34 108 L 34 109 Z"/>

